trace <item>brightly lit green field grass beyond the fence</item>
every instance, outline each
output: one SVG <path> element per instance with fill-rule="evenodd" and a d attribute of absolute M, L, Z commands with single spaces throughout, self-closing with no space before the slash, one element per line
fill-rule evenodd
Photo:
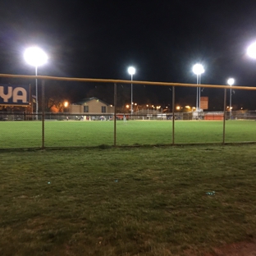
<path fill-rule="evenodd" d="M 255 121 L 226 121 L 226 142 L 256 141 Z M 0 148 L 42 145 L 42 122 L 0 122 Z M 117 121 L 117 145 L 171 144 L 171 121 Z M 175 143 L 221 143 L 222 121 L 175 121 Z M 114 144 L 113 121 L 45 121 L 46 147 Z"/>

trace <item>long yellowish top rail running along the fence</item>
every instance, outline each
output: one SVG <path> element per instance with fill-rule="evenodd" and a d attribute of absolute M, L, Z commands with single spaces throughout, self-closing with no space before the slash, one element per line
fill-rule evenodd
<path fill-rule="evenodd" d="M 94 83 L 116 83 L 116 84 L 130 84 L 130 80 L 114 80 L 114 79 L 94 79 L 94 78 L 75 78 L 75 77 L 59 77 L 48 75 L 10 75 L 0 74 L 0 77 L 5 78 L 23 78 L 23 79 L 42 79 L 42 80 L 62 80 L 62 81 L 75 81 L 75 82 L 94 82 Z M 169 82 L 153 82 L 153 81 L 138 81 L 132 80 L 133 85 L 164 85 L 164 86 L 181 86 L 181 87 L 203 87 L 203 88 L 217 88 L 217 89 L 230 89 L 230 85 L 196 85 L 196 84 L 183 84 L 183 83 L 169 83 Z M 246 89 L 256 90 L 256 87 L 232 85 L 232 89 Z"/>

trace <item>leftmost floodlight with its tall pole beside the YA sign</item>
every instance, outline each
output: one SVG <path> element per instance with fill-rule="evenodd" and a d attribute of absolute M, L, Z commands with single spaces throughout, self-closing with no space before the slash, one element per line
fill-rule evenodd
<path fill-rule="evenodd" d="M 24 58 L 25 61 L 30 64 L 31 66 L 35 67 L 35 75 L 37 75 L 37 69 L 38 66 L 42 66 L 45 64 L 48 60 L 48 56 L 46 53 L 43 52 L 42 49 L 38 47 L 30 47 L 25 50 L 24 53 Z M 37 78 L 35 79 L 35 100 L 36 100 L 36 120 L 38 120 L 38 112 L 39 112 L 39 95 L 38 95 L 38 83 L 37 83 Z"/>

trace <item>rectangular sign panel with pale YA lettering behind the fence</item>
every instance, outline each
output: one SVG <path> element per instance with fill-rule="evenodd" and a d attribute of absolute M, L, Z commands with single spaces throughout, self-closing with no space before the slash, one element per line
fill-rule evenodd
<path fill-rule="evenodd" d="M 30 105 L 30 85 L 0 85 L 0 105 Z"/>

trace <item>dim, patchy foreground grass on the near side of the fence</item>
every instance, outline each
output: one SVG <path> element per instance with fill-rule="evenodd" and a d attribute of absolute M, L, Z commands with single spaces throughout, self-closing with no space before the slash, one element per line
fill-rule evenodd
<path fill-rule="evenodd" d="M 203 255 L 250 240 L 255 153 L 252 144 L 1 152 L 0 254 Z"/>

